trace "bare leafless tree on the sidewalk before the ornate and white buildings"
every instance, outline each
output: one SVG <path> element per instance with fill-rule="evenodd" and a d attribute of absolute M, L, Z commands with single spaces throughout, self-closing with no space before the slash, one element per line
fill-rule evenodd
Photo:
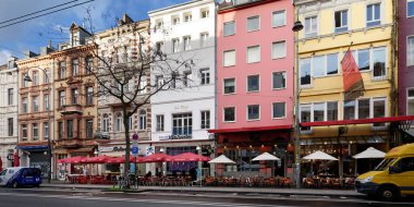
<path fill-rule="evenodd" d="M 158 45 L 151 45 L 151 33 L 168 35 L 167 29 L 151 28 L 149 21 L 132 22 L 124 17 L 114 26 L 102 33 L 94 33 L 89 14 L 85 19 L 92 36 L 88 44 L 96 46 L 93 51 L 94 64 L 87 64 L 88 72 L 95 76 L 99 89 L 97 96 L 109 96 L 119 104 L 123 114 L 125 136 L 124 178 L 130 173 L 130 117 L 139 108 L 149 104 L 150 98 L 162 90 L 180 89 L 183 82 L 188 82 L 182 73 L 192 70 L 193 60 L 163 52 Z M 108 37 L 109 35 L 109 37 Z M 106 36 L 107 41 L 104 40 Z M 147 81 L 151 73 L 151 81 Z M 130 184 L 126 182 L 126 187 Z"/>

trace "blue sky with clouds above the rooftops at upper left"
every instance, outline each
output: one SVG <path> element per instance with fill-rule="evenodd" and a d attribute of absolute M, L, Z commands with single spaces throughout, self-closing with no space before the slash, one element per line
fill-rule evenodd
<path fill-rule="evenodd" d="M 95 0 L 85 4 L 73 7 L 38 19 L 5 26 L 8 24 L 31 19 L 27 17 L 5 22 L 33 12 L 45 10 L 62 3 L 69 4 L 48 10 L 47 12 L 80 4 L 89 0 L 1 0 L 0 2 L 0 64 L 7 62 L 7 58 L 14 56 L 23 58 L 24 51 L 39 52 L 40 47 L 69 41 L 69 27 L 74 22 L 82 25 L 90 10 L 96 31 L 110 28 L 115 20 L 123 13 L 129 14 L 134 21 L 148 19 L 147 12 L 161 9 L 190 0 Z"/>

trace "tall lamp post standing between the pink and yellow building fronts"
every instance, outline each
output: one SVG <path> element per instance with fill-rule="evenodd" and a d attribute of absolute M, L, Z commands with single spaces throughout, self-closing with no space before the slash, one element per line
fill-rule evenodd
<path fill-rule="evenodd" d="M 294 108 L 294 121 L 295 121 L 295 142 L 294 142 L 294 149 L 295 149 L 295 182 L 296 187 L 301 187 L 301 142 L 300 142 L 300 115 L 299 115 L 299 95 L 300 95 L 300 71 L 299 71 L 299 32 L 303 29 L 302 22 L 299 21 L 299 9 L 296 9 L 296 22 L 294 23 L 292 31 L 295 33 L 295 65 L 296 65 L 296 88 L 295 88 L 295 108 Z"/>

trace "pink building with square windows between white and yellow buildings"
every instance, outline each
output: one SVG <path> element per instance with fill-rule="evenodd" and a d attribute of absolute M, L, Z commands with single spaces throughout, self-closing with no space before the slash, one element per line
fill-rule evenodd
<path fill-rule="evenodd" d="M 218 134 L 218 154 L 238 162 L 238 169 L 233 167 L 224 173 L 261 169 L 263 175 L 284 175 L 293 161 L 289 153 L 293 151 L 293 15 L 289 0 L 233 0 L 219 4 L 218 121 L 217 129 L 210 132 Z M 251 161 L 265 151 L 282 161 L 275 168 Z"/>

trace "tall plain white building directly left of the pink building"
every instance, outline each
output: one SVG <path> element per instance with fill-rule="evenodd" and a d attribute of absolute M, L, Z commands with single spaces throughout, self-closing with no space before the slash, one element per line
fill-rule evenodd
<path fill-rule="evenodd" d="M 182 85 L 171 82 L 172 89 L 151 98 L 150 145 L 156 151 L 168 155 L 203 151 L 209 156 L 214 136 L 207 130 L 215 127 L 216 120 L 215 1 L 194 0 L 150 11 L 148 15 L 154 29 L 151 46 L 171 59 L 194 63 L 179 70 Z M 151 72 L 151 83 L 162 82 L 162 78 Z M 192 167 L 169 165 L 167 172 L 185 171 Z"/>

